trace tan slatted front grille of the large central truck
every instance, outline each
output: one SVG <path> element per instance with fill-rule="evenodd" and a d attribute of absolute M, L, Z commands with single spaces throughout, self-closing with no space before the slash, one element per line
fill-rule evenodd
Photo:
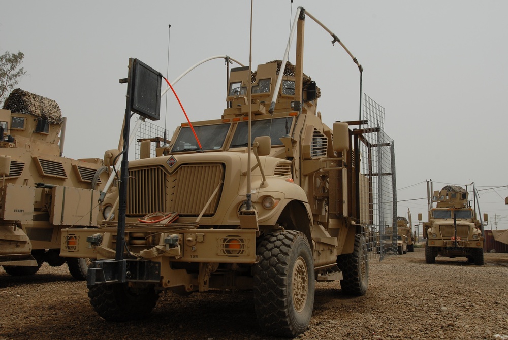
<path fill-rule="evenodd" d="M 162 167 L 130 169 L 126 216 L 141 217 L 153 212 L 198 216 L 223 181 L 221 164 L 182 165 L 171 175 Z M 204 216 L 215 214 L 220 189 L 221 186 Z"/>

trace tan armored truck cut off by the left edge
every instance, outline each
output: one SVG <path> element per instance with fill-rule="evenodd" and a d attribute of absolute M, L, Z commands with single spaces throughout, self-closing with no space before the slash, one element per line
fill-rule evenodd
<path fill-rule="evenodd" d="M 104 168 L 61 157 L 65 122 L 54 100 L 21 89 L 0 110 L 0 265 L 10 275 L 47 262 L 86 278 L 86 259 L 60 256 L 60 230 L 97 225 Z"/>

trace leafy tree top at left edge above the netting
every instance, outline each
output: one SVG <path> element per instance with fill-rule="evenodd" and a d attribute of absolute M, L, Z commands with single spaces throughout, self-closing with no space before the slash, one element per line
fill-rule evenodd
<path fill-rule="evenodd" d="M 4 102 L 7 95 L 19 83 L 19 79 L 26 74 L 23 67 L 18 69 L 24 56 L 20 51 L 17 54 L 6 51 L 0 55 L 0 103 Z"/>

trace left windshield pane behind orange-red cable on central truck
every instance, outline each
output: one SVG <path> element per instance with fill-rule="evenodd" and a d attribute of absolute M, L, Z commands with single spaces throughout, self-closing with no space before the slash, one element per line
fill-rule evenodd
<path fill-rule="evenodd" d="M 215 124 L 194 126 L 194 131 L 203 150 L 218 150 L 222 148 L 231 124 Z M 182 127 L 178 133 L 171 152 L 199 150 L 198 142 L 189 126 Z"/>

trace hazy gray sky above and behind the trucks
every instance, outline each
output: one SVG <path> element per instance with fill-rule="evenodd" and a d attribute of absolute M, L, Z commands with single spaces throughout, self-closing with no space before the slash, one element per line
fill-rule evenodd
<path fill-rule="evenodd" d="M 427 220 L 426 200 L 412 200 L 426 197 L 427 179 L 436 190 L 474 181 L 488 189 L 480 191 L 482 213 L 493 228 L 499 215 L 498 229 L 508 229 L 501 145 L 508 2 L 256 0 L 253 69 L 282 59 L 298 6 L 358 58 L 364 92 L 385 108 L 385 131 L 395 141 L 398 215 L 410 208 L 413 222 L 418 213 Z M 118 145 L 126 93 L 118 79 L 127 76 L 130 57 L 169 81 L 214 55 L 248 65 L 249 20 L 250 1 L 4 1 L 0 53 L 23 52 L 28 75 L 19 87 L 56 100 L 68 117 L 65 156 L 102 158 Z M 321 88 L 325 123 L 358 119 L 358 68 L 310 19 L 305 33 L 304 72 Z M 224 60 L 217 59 L 175 85 L 191 120 L 220 117 L 225 81 Z M 171 136 L 185 117 L 173 96 L 163 98 L 162 108 L 160 124 Z M 491 189 L 498 186 L 504 187 Z"/>

